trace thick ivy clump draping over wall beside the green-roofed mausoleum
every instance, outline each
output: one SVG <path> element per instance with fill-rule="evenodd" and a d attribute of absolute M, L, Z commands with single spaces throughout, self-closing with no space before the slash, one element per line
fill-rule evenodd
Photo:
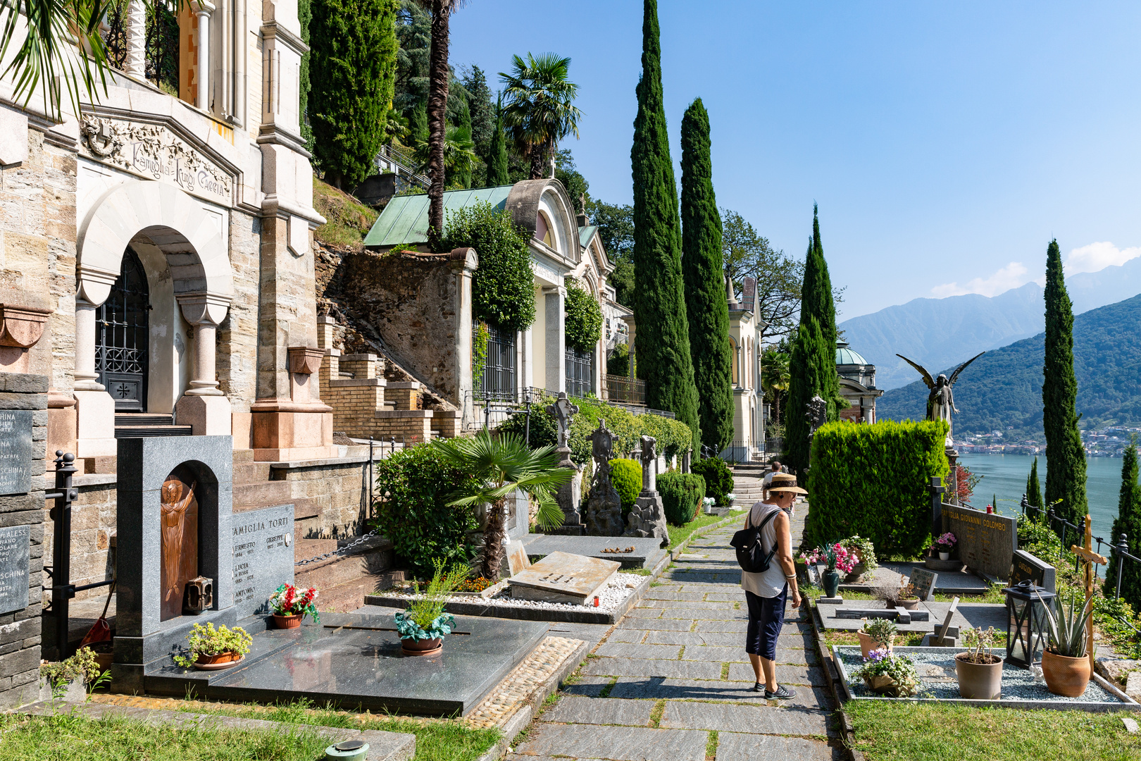
<path fill-rule="evenodd" d="M 484 201 L 448 212 L 445 249 L 470 246 L 479 257 L 471 278 L 472 318 L 510 331 L 535 322 L 535 277 L 527 236 L 511 214 Z"/>

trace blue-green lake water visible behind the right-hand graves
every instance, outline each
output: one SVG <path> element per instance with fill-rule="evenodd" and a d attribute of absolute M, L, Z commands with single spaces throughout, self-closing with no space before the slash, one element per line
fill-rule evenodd
<path fill-rule="evenodd" d="M 958 461 L 982 476 L 974 487 L 971 505 L 985 508 L 993 495 L 998 497 L 998 511 L 1005 515 L 1020 512 L 1019 504 L 1026 492 L 1034 455 L 1029 454 L 961 454 Z M 1038 478 L 1046 491 L 1046 459 L 1038 455 Z M 1117 496 L 1122 488 L 1120 458 L 1087 458 L 1085 461 L 1085 491 L 1093 519 L 1093 535 L 1109 539 L 1117 518 Z"/>

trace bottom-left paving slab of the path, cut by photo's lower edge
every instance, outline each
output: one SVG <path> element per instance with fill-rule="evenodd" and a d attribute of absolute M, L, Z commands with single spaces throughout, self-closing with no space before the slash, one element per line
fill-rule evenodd
<path fill-rule="evenodd" d="M 520 759 L 535 755 L 613 761 L 705 761 L 707 735 L 694 729 L 642 729 L 610 727 L 600 731 L 593 726 L 539 723 L 527 742 L 515 752 Z M 790 756 L 795 758 L 795 756 Z"/>

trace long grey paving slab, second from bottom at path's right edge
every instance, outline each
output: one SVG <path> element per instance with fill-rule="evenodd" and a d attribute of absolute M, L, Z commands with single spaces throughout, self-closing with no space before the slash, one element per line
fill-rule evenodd
<path fill-rule="evenodd" d="M 767 705 L 672 702 L 665 705 L 661 726 L 670 729 L 826 737 L 828 714 L 809 709 L 770 709 Z"/>

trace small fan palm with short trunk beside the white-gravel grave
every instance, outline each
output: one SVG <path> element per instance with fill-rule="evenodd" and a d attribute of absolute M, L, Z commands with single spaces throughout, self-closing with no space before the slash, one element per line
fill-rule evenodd
<path fill-rule="evenodd" d="M 474 504 L 483 510 L 484 559 L 479 573 L 484 578 L 499 578 L 504 508 L 511 492 L 520 489 L 539 502 L 535 519 L 543 528 L 563 524 L 563 510 L 553 495 L 570 480 L 573 471 L 558 467 L 555 447 L 532 450 L 513 434 L 493 437 L 486 430 L 474 438 L 439 439 L 436 446 L 445 462 L 474 476 L 448 504 Z"/>

